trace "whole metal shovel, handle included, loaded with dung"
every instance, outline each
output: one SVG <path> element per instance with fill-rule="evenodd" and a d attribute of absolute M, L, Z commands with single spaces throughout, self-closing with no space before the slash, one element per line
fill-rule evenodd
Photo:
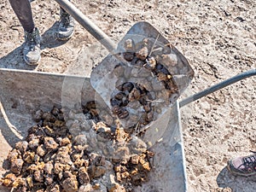
<path fill-rule="evenodd" d="M 115 44 L 73 3 L 55 1 L 110 53 L 90 74 L 96 96 L 126 131 L 154 144 L 166 129 L 168 109 L 194 76 L 189 62 L 148 22 L 137 22 Z"/>

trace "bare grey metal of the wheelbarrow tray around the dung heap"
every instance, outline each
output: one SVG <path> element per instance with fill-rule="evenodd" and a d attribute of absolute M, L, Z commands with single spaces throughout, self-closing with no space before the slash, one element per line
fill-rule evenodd
<path fill-rule="evenodd" d="M 73 93 L 80 93 L 77 95 L 81 102 L 96 98 L 96 92 L 90 85 L 89 77 L 0 69 L 0 81 L 0 96 L 7 116 L 21 131 L 23 137 L 26 136 L 27 129 L 35 124 L 32 113 L 39 108 L 49 111 L 53 106 L 60 107 L 61 104 L 66 107 L 70 105 L 69 107 L 72 108 L 73 102 L 78 99 L 73 98 Z M 68 102 L 63 103 L 63 101 Z M 172 109 L 170 108 L 163 118 L 170 119 L 167 129 L 162 141 L 152 148 L 155 155 L 149 181 L 138 187 L 138 191 L 187 190 L 178 103 Z M 0 172 L 3 174 L 4 160 L 9 149 L 19 141 L 19 138 L 9 130 L 2 115 L 0 128 Z"/>

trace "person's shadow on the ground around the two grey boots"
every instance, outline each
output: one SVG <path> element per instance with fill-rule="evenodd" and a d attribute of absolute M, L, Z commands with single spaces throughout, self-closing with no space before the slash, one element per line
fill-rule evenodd
<path fill-rule="evenodd" d="M 55 32 L 58 27 L 58 21 L 54 23 L 44 34 L 42 34 L 41 50 L 53 49 L 55 47 L 66 44 L 67 41 L 60 41 L 56 38 Z M 9 52 L 8 55 L 0 58 L 0 68 L 12 68 L 12 69 L 23 69 L 23 70 L 34 70 L 37 66 L 27 65 L 23 60 L 22 55 L 23 44 L 20 47 Z M 42 60 L 41 60 L 42 61 Z"/>

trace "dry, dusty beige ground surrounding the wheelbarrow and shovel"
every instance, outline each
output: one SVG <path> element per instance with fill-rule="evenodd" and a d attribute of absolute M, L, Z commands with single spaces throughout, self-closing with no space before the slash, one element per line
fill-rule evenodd
<path fill-rule="evenodd" d="M 156 27 L 195 70 L 189 96 L 256 67 L 256 3 L 217 1 L 76 1 L 84 15 L 110 37 L 121 38 L 139 20 Z M 0 3 L 0 67 L 52 73 L 77 73 L 81 51 L 96 40 L 81 26 L 74 37 L 55 40 L 57 3 L 32 3 L 43 36 L 38 67 L 22 61 L 23 30 L 7 0 Z M 182 108 L 183 142 L 189 191 L 256 191 L 256 177 L 234 177 L 226 161 L 255 150 L 256 79 L 232 84 Z M 172 191 L 170 189 L 170 191 Z"/>

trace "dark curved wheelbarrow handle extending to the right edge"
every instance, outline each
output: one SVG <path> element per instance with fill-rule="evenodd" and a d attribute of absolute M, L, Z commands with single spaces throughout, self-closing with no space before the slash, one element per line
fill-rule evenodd
<path fill-rule="evenodd" d="M 253 75 L 256 75 L 256 69 L 249 70 L 244 73 L 240 73 L 230 79 L 226 79 L 223 82 L 220 82 L 218 84 L 213 85 L 212 87 L 207 88 L 206 90 L 202 90 L 199 93 L 196 93 L 193 96 L 189 96 L 185 98 L 183 101 L 179 102 L 179 108 L 182 108 L 183 106 L 189 104 L 190 102 L 195 102 L 196 100 L 200 99 L 203 96 L 207 96 L 217 90 L 220 90 L 230 84 L 234 84 L 237 81 L 240 81 L 241 79 L 246 79 L 249 77 L 252 77 Z"/>

